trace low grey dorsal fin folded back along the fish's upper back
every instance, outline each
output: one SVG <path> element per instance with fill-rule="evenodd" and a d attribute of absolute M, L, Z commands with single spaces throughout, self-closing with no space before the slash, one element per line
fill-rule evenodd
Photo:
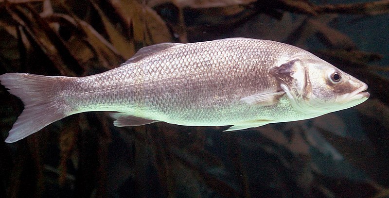
<path fill-rule="evenodd" d="M 155 54 L 159 51 L 171 48 L 173 46 L 178 46 L 178 45 L 184 45 L 183 43 L 160 43 L 152 46 L 146 46 L 138 50 L 137 53 L 135 53 L 130 59 L 128 59 L 126 62 L 124 62 L 120 66 L 125 66 L 130 63 L 136 63 L 143 58 L 146 58 L 152 54 Z"/>

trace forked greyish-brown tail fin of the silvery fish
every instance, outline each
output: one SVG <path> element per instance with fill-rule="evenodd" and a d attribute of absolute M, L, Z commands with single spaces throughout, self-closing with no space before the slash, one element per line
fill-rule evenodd
<path fill-rule="evenodd" d="M 68 116 L 61 111 L 64 108 L 60 108 L 61 102 L 57 101 L 59 78 L 67 77 L 25 73 L 6 73 L 0 76 L 1 84 L 24 103 L 24 110 L 5 142 L 16 142 Z"/>

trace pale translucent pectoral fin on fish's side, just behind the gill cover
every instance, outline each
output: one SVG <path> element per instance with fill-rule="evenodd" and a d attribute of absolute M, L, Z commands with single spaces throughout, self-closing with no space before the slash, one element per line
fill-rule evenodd
<path fill-rule="evenodd" d="M 250 105 L 270 106 L 276 104 L 284 94 L 284 91 L 267 92 L 248 96 L 240 100 Z"/>

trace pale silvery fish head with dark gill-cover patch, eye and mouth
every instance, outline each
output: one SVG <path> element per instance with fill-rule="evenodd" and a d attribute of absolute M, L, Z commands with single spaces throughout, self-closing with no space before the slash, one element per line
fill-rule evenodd
<path fill-rule="evenodd" d="M 280 83 L 291 104 L 299 111 L 323 115 L 358 105 L 370 97 L 368 85 L 318 58 L 305 54 L 270 73 Z"/>

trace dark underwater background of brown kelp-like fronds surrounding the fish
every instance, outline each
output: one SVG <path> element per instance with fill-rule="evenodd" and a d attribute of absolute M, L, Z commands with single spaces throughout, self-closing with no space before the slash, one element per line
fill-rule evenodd
<path fill-rule="evenodd" d="M 0 0 L 0 74 L 87 76 L 144 46 L 227 37 L 306 49 L 371 97 L 229 133 L 82 113 L 8 144 L 23 104 L 0 86 L 0 197 L 389 197 L 389 0 Z"/>

